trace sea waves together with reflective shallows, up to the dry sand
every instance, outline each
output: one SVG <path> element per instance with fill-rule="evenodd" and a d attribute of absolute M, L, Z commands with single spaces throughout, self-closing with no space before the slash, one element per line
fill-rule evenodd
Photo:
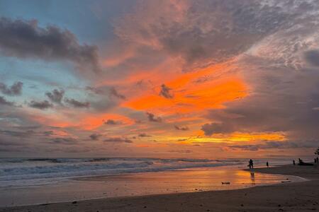
<path fill-rule="evenodd" d="M 1 158 L 0 206 L 137 196 L 175 192 L 242 189 L 286 180 L 241 170 L 247 159 L 193 158 Z M 291 163 L 259 159 L 262 167 Z M 290 177 L 296 181 L 298 179 Z M 221 184 L 230 182 L 230 184 Z"/>

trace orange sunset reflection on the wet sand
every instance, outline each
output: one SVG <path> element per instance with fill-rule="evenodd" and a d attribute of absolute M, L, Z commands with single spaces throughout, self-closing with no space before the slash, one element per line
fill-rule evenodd
<path fill-rule="evenodd" d="M 135 194 L 160 194 L 176 192 L 201 192 L 208 190 L 242 189 L 255 184 L 273 184 L 283 180 L 283 175 L 268 175 L 235 170 L 233 168 L 194 168 L 189 170 L 175 170 L 165 172 L 147 172 L 128 175 L 115 175 L 106 177 L 89 177 L 84 181 L 112 182 L 128 185 L 126 189 Z M 230 184 L 222 184 L 229 182 Z M 109 188 L 112 190 L 113 188 Z M 124 191 L 126 189 L 123 189 Z M 118 189 L 116 189 L 118 191 Z M 152 191 L 152 192 L 151 192 Z"/>

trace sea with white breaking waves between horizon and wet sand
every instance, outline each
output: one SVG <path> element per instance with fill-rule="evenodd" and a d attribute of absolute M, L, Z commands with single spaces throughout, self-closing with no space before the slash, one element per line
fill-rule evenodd
<path fill-rule="evenodd" d="M 198 167 L 247 167 L 249 159 L 194 158 L 0 158 L 0 188 L 53 184 L 74 177 L 162 172 Z M 258 159 L 256 166 L 291 163 L 291 159 Z"/>

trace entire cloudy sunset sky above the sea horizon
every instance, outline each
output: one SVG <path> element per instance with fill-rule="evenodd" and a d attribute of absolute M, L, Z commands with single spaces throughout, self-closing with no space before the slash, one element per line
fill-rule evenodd
<path fill-rule="evenodd" d="M 296 158 L 317 0 L 0 0 L 0 156 Z"/>

